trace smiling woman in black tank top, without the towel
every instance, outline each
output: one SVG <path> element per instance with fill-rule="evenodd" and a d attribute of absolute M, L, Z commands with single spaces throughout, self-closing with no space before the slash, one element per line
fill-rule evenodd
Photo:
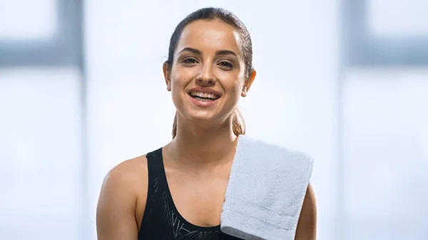
<path fill-rule="evenodd" d="M 177 108 L 173 140 L 107 174 L 99 240 L 235 239 L 220 232 L 220 214 L 237 136 L 245 134 L 237 107 L 255 79 L 252 55 L 248 30 L 228 11 L 200 9 L 178 24 L 163 64 Z M 309 186 L 295 239 L 315 239 L 315 226 Z"/>

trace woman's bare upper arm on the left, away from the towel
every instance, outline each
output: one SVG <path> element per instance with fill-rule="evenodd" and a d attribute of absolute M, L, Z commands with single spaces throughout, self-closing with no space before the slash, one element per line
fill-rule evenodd
<path fill-rule="evenodd" d="M 137 193 L 133 187 L 132 173 L 126 163 L 111 169 L 106 175 L 96 209 L 98 240 L 136 240 Z"/>

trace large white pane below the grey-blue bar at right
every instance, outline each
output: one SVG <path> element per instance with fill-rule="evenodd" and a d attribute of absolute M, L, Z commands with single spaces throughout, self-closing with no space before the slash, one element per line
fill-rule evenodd
<path fill-rule="evenodd" d="M 428 68 L 355 68 L 343 95 L 346 239 L 427 239 Z"/>

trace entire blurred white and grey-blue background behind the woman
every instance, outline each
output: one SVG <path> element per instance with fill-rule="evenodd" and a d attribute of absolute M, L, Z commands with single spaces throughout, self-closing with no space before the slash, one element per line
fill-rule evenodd
<path fill-rule="evenodd" d="M 0 0 L 0 239 L 96 239 L 111 167 L 170 140 L 175 25 L 253 37 L 248 135 L 315 157 L 317 239 L 428 239 L 428 1 Z"/>

